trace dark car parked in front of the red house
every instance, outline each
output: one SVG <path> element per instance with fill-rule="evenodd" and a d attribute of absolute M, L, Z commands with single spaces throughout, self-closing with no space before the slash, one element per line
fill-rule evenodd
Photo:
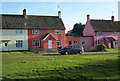
<path fill-rule="evenodd" d="M 59 53 L 61 53 L 62 55 L 68 55 L 68 54 L 82 54 L 84 52 L 84 48 L 81 45 L 69 45 L 63 49 L 59 50 Z"/>

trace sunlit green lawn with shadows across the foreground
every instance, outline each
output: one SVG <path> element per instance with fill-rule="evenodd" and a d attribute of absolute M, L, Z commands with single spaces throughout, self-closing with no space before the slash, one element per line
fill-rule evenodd
<path fill-rule="evenodd" d="M 26 79 L 25 81 L 119 79 L 118 57 L 120 55 L 117 53 L 3 57 L 2 77 L 5 81 L 6 79 Z"/>

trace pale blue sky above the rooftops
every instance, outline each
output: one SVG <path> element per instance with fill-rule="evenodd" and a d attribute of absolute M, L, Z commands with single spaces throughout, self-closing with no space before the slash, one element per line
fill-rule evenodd
<path fill-rule="evenodd" d="M 117 2 L 2 2 L 3 14 L 22 14 L 24 8 L 28 15 L 57 16 L 60 10 L 66 32 L 75 23 L 85 24 L 87 14 L 90 14 L 91 19 L 110 20 L 114 15 L 115 20 L 118 20 Z"/>

